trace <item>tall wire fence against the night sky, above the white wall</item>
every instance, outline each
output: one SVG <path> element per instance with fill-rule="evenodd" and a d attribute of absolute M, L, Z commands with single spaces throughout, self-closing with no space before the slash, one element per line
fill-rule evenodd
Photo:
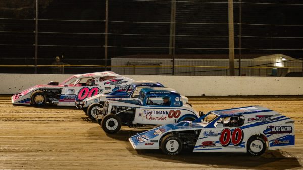
<path fill-rule="evenodd" d="M 20 0 L 2 6 L 1 73 L 229 73 L 227 1 Z M 302 72 L 301 60 L 294 60 L 303 54 L 300 1 L 233 1 L 233 6 L 236 75 Z M 55 56 L 64 67 L 54 69 Z M 260 56 L 267 59 L 255 59 Z"/>

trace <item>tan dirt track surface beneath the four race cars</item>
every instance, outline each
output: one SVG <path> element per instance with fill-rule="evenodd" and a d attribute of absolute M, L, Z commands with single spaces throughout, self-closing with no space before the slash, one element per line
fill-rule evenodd
<path fill-rule="evenodd" d="M 0 169 L 303 169 L 303 97 L 190 97 L 196 110 L 262 105 L 295 120 L 293 148 L 244 153 L 137 152 L 128 138 L 143 129 L 107 135 L 73 107 L 13 106 L 0 96 Z"/>

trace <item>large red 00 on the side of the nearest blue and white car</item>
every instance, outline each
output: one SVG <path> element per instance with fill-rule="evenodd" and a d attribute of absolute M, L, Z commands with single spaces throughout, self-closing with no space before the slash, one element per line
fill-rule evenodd
<path fill-rule="evenodd" d="M 222 146 L 228 146 L 230 143 L 232 143 L 234 146 L 238 146 L 242 143 L 242 140 L 243 131 L 240 128 L 234 129 L 233 132 L 231 132 L 231 130 L 228 128 L 223 129 L 220 135 L 220 144 Z"/>

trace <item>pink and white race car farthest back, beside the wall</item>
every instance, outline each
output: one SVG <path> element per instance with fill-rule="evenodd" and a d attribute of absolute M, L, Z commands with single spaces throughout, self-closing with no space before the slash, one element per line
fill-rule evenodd
<path fill-rule="evenodd" d="M 12 96 L 13 104 L 74 106 L 76 100 L 83 100 L 97 94 L 125 91 L 134 80 L 114 72 L 96 72 L 73 75 L 63 81 L 36 85 Z"/>

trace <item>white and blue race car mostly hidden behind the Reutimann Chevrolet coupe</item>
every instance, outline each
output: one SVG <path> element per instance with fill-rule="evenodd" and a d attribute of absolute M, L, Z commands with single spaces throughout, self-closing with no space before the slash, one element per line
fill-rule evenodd
<path fill-rule="evenodd" d="M 82 101 L 75 101 L 76 107 L 83 109 L 90 119 L 96 119 L 98 109 L 102 109 L 105 100 L 137 100 L 142 88 L 146 87 L 164 87 L 161 83 L 154 81 L 134 81 L 126 89 L 126 91 L 115 91 L 107 94 L 98 94 Z"/>

